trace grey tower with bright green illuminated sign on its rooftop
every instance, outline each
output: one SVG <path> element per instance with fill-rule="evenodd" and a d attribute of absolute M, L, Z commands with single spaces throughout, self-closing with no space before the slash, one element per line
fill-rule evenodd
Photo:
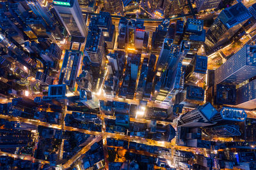
<path fill-rule="evenodd" d="M 77 0 L 60 0 L 53 1 L 54 9 L 58 13 L 71 40 L 79 43 L 84 42 L 84 38 L 88 35 L 81 8 Z"/>

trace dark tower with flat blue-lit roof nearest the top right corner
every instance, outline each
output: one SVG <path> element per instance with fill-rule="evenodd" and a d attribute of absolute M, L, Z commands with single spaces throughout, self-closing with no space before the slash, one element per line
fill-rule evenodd
<path fill-rule="evenodd" d="M 250 17 L 252 15 L 242 3 L 222 10 L 206 32 L 206 53 L 209 54 L 213 48 L 225 44 Z"/>

